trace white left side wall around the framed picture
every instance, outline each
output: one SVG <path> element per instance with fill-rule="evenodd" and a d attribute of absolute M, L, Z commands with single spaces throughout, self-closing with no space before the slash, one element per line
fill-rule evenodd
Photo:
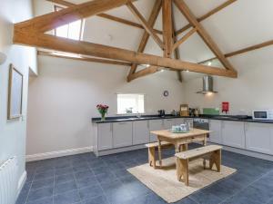
<path fill-rule="evenodd" d="M 18 180 L 25 172 L 25 128 L 29 67 L 36 72 L 34 48 L 12 44 L 13 24 L 32 17 L 30 0 L 2 0 L 0 6 L 0 51 L 7 55 L 0 65 L 0 163 L 10 157 L 18 159 Z M 9 64 L 24 74 L 23 120 L 7 121 L 7 90 Z"/>

